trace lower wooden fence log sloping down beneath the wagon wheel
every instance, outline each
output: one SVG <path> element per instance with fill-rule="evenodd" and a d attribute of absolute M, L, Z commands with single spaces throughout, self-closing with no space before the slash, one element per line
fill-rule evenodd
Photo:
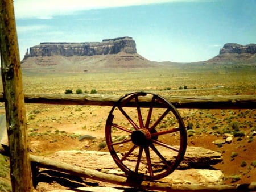
<path fill-rule="evenodd" d="M 53 161 L 49 158 L 30 155 L 31 162 L 47 169 L 58 170 L 61 172 L 73 174 L 79 177 L 90 178 L 103 182 L 114 183 L 122 186 L 130 186 L 139 189 L 160 190 L 160 191 L 255 191 L 256 182 L 241 185 L 203 185 L 203 184 L 172 184 L 158 181 L 141 181 L 132 180 L 123 176 L 114 174 L 101 173 L 93 169 L 85 169 L 69 165 L 64 162 Z"/>

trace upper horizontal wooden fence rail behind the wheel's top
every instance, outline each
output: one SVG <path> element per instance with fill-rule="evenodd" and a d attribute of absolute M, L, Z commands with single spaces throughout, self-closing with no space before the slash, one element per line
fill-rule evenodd
<path fill-rule="evenodd" d="M 100 94 L 25 94 L 26 103 L 44 103 L 61 105 L 98 105 L 113 106 L 120 96 Z M 164 97 L 176 108 L 199 109 L 254 109 L 256 95 L 229 95 L 229 96 L 171 96 Z M 0 94 L 0 102 L 4 102 Z M 149 106 L 150 99 L 145 98 L 143 106 Z M 135 102 L 130 102 L 135 106 Z"/>

